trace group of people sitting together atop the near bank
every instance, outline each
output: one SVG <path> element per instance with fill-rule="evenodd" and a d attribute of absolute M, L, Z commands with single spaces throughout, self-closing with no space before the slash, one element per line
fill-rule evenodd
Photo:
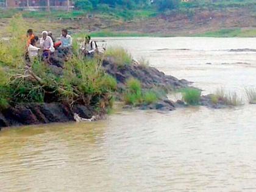
<path fill-rule="evenodd" d="M 61 52 L 63 55 L 72 55 L 73 39 L 68 34 L 68 30 L 62 29 L 59 41 L 57 41 L 52 32 L 44 30 L 41 33 L 41 38 L 34 35 L 32 29 L 27 30 L 27 58 L 30 63 L 38 58 L 39 52 L 41 52 L 41 59 L 44 62 L 51 63 L 51 57 L 55 52 Z M 93 57 L 98 52 L 98 46 L 95 41 L 91 41 L 91 37 L 87 35 L 84 41 L 80 44 L 79 53 L 85 57 Z"/>

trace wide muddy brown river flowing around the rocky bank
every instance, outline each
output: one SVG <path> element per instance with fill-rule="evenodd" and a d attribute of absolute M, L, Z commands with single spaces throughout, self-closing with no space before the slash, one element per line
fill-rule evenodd
<path fill-rule="evenodd" d="M 99 38 L 99 40 L 103 40 Z M 255 38 L 104 38 L 241 107 L 122 110 L 96 123 L 0 132 L 1 191 L 256 191 Z M 101 44 L 100 44 L 101 45 Z"/>

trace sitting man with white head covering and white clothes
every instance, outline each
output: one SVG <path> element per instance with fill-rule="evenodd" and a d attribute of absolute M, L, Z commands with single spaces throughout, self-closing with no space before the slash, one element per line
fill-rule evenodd
<path fill-rule="evenodd" d="M 44 30 L 40 39 L 40 46 L 43 49 L 43 59 L 50 63 L 50 55 L 55 51 L 52 38 L 48 36 L 48 32 Z M 51 63 L 50 63 L 51 64 Z"/>

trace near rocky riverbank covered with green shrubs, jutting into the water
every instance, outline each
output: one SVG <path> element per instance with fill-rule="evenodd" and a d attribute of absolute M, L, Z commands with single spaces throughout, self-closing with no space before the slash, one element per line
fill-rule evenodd
<path fill-rule="evenodd" d="M 6 30 L 11 38 L 1 41 L 0 127 L 74 121 L 75 114 L 90 119 L 105 115 L 114 98 L 132 105 L 151 104 L 188 85 L 146 61 L 134 61 L 121 47 L 108 48 L 93 59 L 80 57 L 76 38 L 72 53 L 58 48 L 48 63 L 40 57 L 29 62 L 24 59 L 23 18 L 16 15 Z M 148 91 L 152 89 L 156 91 Z M 157 95 L 158 90 L 166 93 Z"/>

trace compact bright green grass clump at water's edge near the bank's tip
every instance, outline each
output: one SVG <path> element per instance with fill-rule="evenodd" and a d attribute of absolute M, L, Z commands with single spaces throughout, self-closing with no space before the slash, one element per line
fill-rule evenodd
<path fill-rule="evenodd" d="M 184 88 L 182 99 L 189 105 L 198 105 L 201 98 L 201 90 L 196 88 Z"/>

